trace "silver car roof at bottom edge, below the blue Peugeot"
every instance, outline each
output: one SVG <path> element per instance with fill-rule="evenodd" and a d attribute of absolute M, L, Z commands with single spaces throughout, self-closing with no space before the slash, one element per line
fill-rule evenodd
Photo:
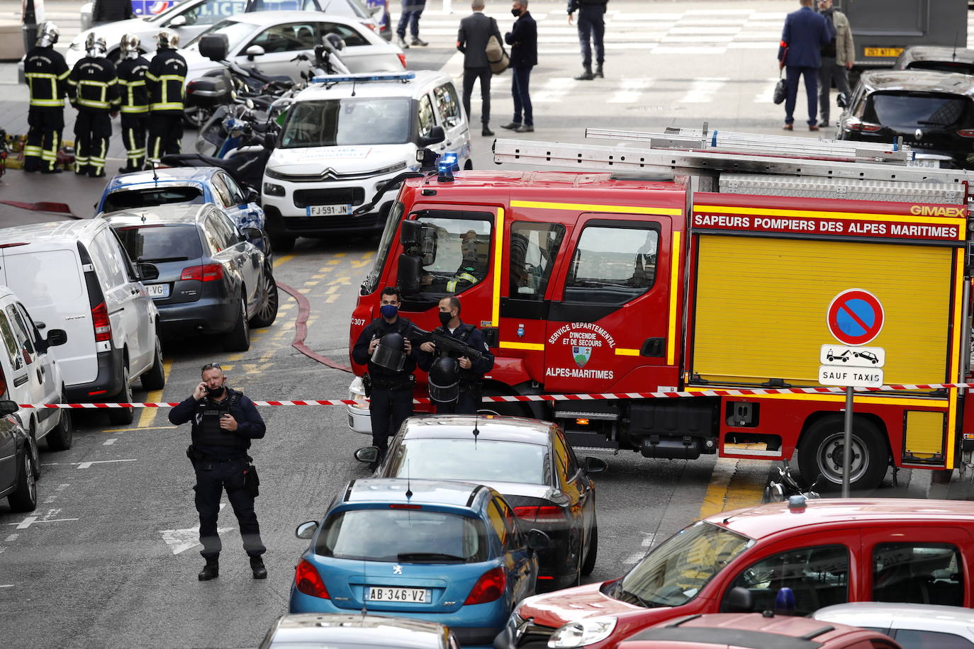
<path fill-rule="evenodd" d="M 345 613 L 282 615 L 267 631 L 260 649 L 338 647 L 341 649 L 459 649 L 443 625 L 422 620 Z"/>

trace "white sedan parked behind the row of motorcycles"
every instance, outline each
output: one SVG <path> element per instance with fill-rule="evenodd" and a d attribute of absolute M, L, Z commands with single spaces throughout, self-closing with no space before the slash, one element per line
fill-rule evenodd
<path fill-rule="evenodd" d="M 320 12 L 254 12 L 220 20 L 186 45 L 181 51 L 189 66 L 186 81 L 222 67 L 200 54 L 199 42 L 206 34 L 226 34 L 229 60 L 242 66 L 256 64 L 266 75 L 300 81 L 301 68 L 294 57 L 314 58 L 315 45 L 329 33 L 345 40 L 342 61 L 351 72 L 401 72 L 406 67 L 402 50 L 354 18 Z"/>

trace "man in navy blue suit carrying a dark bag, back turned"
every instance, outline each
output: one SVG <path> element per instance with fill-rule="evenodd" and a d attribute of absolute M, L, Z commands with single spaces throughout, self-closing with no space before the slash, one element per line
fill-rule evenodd
<path fill-rule="evenodd" d="M 833 38 L 828 22 L 812 11 L 812 0 L 799 0 L 802 8 L 785 17 L 778 47 L 778 67 L 785 68 L 788 95 L 785 98 L 785 130 L 795 122 L 798 83 L 805 76 L 808 96 L 808 130 L 818 130 L 815 123 L 818 99 L 818 69 L 822 66 L 822 47 Z"/>

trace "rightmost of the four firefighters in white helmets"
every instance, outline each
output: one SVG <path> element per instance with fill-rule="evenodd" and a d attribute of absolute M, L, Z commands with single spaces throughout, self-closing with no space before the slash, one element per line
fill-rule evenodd
<path fill-rule="evenodd" d="M 149 90 L 149 156 L 159 160 L 182 147 L 183 84 L 186 59 L 176 52 L 179 36 L 163 30 L 156 37 L 159 49 L 145 73 Z"/>

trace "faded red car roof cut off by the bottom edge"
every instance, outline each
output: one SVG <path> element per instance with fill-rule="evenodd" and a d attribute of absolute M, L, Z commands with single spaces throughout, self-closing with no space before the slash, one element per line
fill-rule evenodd
<path fill-rule="evenodd" d="M 901 649 L 880 631 L 760 613 L 692 615 L 639 631 L 619 649 Z"/>

